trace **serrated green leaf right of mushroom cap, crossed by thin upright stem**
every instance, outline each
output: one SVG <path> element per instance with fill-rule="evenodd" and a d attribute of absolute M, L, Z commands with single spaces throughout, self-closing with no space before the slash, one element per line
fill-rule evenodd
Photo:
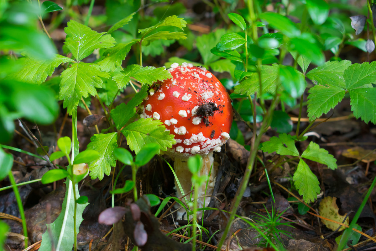
<path fill-rule="evenodd" d="M 278 65 L 262 65 L 261 66 L 261 83 L 262 93 L 275 93 L 277 88 L 277 79 L 279 78 Z M 235 86 L 234 93 L 253 95 L 257 92 L 260 96 L 259 77 L 257 73 L 253 73 L 249 78 L 240 82 Z"/>

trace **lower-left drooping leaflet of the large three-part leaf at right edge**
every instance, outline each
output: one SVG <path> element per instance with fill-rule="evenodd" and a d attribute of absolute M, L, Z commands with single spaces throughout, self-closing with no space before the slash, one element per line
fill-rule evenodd
<path fill-rule="evenodd" d="M 346 91 L 337 86 L 315 85 L 308 91 L 308 117 L 312 121 L 333 109 L 345 96 Z"/>

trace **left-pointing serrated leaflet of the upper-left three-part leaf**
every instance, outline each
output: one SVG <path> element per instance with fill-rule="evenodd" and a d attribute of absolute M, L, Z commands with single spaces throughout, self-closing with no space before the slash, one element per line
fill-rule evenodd
<path fill-rule="evenodd" d="M 18 59 L 18 62 L 22 67 L 12 74 L 11 78 L 22 82 L 42 84 L 48 76 L 52 76 L 55 68 L 61 63 L 74 62 L 74 60 L 58 54 L 55 54 L 52 59 L 46 60 L 39 60 L 26 55 Z"/>

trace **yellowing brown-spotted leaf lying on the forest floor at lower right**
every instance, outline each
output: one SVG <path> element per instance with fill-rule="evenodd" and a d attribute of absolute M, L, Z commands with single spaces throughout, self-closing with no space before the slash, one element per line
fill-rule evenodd
<path fill-rule="evenodd" d="M 321 216 L 327 218 L 327 219 L 331 219 L 333 221 L 337 221 L 337 222 L 343 222 L 343 220 L 345 219 L 346 215 L 341 215 L 338 213 L 338 206 L 336 204 L 336 201 L 337 198 L 335 197 L 331 197 L 331 196 L 327 196 L 325 198 L 323 198 L 320 202 L 320 205 L 318 207 L 318 212 L 320 213 Z M 331 229 L 331 230 L 336 230 L 340 225 L 337 224 L 337 223 L 334 223 L 334 222 L 330 222 L 330 221 L 327 221 L 327 220 L 324 220 L 324 219 L 321 219 L 321 222 L 323 222 L 323 224 Z M 344 224 L 346 225 L 349 225 L 349 218 L 346 218 Z M 339 231 L 342 231 L 344 230 L 345 227 L 341 227 Z"/>

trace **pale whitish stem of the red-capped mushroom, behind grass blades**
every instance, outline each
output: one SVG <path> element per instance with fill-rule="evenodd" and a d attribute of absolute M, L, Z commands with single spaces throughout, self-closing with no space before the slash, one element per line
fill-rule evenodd
<path fill-rule="evenodd" d="M 210 152 L 209 154 L 202 155 L 203 159 L 203 167 L 200 169 L 199 176 L 206 175 L 208 176 L 208 180 L 206 182 L 199 184 L 199 190 L 194 191 L 197 192 L 199 197 L 197 201 L 198 208 L 207 207 L 210 202 L 210 196 L 213 193 L 215 177 L 217 176 L 218 167 L 214 163 L 213 153 Z M 174 171 L 176 173 L 176 177 L 179 180 L 179 183 L 182 187 L 183 191 L 180 191 L 179 186 L 177 185 L 177 181 L 175 180 L 175 186 L 177 190 L 177 197 L 180 198 L 181 196 L 185 195 L 187 192 L 192 190 L 192 173 L 188 169 L 187 159 L 181 159 L 175 157 L 174 162 Z M 210 176 L 209 176 L 210 174 Z M 206 186 L 207 184 L 207 186 Z M 191 196 L 193 198 L 193 196 Z M 187 198 L 189 201 L 189 198 Z M 184 200 L 183 200 L 184 201 Z M 179 210 L 177 213 L 177 219 L 181 219 L 185 210 Z M 197 215 L 199 217 L 202 216 L 202 211 L 198 211 Z M 184 216 L 186 218 L 186 216 Z"/>

